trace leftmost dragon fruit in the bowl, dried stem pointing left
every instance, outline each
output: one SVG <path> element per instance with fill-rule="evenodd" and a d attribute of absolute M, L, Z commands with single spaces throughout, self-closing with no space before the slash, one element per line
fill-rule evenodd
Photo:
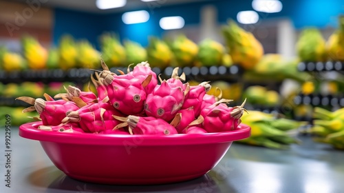
<path fill-rule="evenodd" d="M 73 101 L 52 100 L 52 97 L 45 94 L 45 99 L 33 99 L 28 96 L 20 96 L 17 99 L 33 105 L 25 108 L 23 112 L 31 112 L 36 110 L 39 113 L 39 118 L 42 120 L 43 125 L 60 125 L 63 118 L 70 111 L 78 110 L 79 107 Z"/>

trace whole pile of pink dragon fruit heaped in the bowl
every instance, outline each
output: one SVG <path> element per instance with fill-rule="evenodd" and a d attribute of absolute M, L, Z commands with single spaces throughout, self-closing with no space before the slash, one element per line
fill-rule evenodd
<path fill-rule="evenodd" d="M 149 67 L 138 63 L 132 71 L 111 72 L 102 61 L 103 71 L 91 76 L 97 94 L 69 85 L 66 93 L 45 100 L 21 96 L 42 122 L 39 130 L 94 134 L 202 134 L 235 130 L 240 124 L 244 103 L 229 107 L 232 100 L 206 94 L 209 82 L 185 83 L 185 74 L 173 70 L 162 80 Z M 160 83 L 158 83 L 160 81 Z"/>

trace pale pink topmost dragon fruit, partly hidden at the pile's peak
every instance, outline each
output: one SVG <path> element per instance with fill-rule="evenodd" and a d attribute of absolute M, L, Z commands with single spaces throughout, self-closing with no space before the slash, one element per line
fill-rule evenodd
<path fill-rule="evenodd" d="M 129 67 L 130 67 L 130 65 L 129 65 Z M 144 90 L 146 91 L 146 94 L 153 92 L 153 89 L 158 84 L 158 79 L 156 77 L 155 72 L 153 72 L 153 70 L 151 70 L 149 63 L 147 61 L 145 61 L 145 62 L 142 61 L 141 63 L 136 64 L 136 66 L 133 68 L 133 71 L 131 71 L 131 72 L 129 70 L 129 67 L 128 67 L 128 73 L 127 74 L 133 75 L 133 77 L 135 77 L 136 79 L 139 79 L 141 82 L 143 82 L 145 79 L 147 79 L 147 76 L 149 74 L 152 75 L 151 81 L 144 88 Z"/>

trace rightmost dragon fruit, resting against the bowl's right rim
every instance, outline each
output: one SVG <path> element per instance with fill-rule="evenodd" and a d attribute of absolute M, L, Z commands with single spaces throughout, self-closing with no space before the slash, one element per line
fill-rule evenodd
<path fill-rule="evenodd" d="M 220 100 L 202 110 L 201 115 L 204 117 L 202 128 L 207 132 L 226 132 L 235 130 L 241 123 L 241 116 L 244 114 L 245 101 L 240 106 L 228 108 L 225 103 L 228 100 Z"/>

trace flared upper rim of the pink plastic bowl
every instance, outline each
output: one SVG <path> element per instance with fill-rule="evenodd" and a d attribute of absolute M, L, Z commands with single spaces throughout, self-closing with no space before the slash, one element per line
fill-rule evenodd
<path fill-rule="evenodd" d="M 131 135 L 50 132 L 38 130 L 41 121 L 24 123 L 19 126 L 19 136 L 37 141 L 71 143 L 79 145 L 197 145 L 226 143 L 248 138 L 250 126 L 241 123 L 236 130 L 204 134 Z"/>

